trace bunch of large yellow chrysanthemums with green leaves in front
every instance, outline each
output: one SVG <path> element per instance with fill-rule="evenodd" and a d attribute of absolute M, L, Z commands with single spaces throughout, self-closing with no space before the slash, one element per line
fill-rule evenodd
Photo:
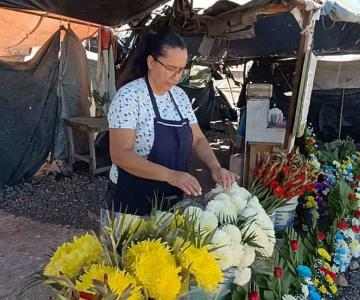
<path fill-rule="evenodd" d="M 58 247 L 43 283 L 62 299 L 168 300 L 192 286 L 211 295 L 223 273 L 209 243 L 213 233 L 196 224 L 203 223 L 195 216 L 155 209 L 145 218 L 109 216 L 100 239 L 85 234 Z"/>

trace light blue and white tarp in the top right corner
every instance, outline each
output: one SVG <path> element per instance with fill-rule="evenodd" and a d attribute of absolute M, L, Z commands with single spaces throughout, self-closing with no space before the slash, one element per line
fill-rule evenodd
<path fill-rule="evenodd" d="M 327 0 L 322 14 L 333 21 L 360 23 L 360 0 Z"/>

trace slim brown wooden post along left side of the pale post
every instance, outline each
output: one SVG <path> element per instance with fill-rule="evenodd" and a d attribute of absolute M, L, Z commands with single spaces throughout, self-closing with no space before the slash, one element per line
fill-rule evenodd
<path fill-rule="evenodd" d="M 304 66 L 305 61 L 305 53 L 306 49 L 308 47 L 309 42 L 309 32 L 306 30 L 307 27 L 311 23 L 311 12 L 305 11 L 303 13 L 303 32 L 301 34 L 301 39 L 299 43 L 299 48 L 297 51 L 297 60 L 296 60 L 296 67 L 295 67 L 295 74 L 293 79 L 293 86 L 292 86 L 292 96 L 290 100 L 290 107 L 288 112 L 288 118 L 287 118 L 287 124 L 286 124 L 286 133 L 285 133 L 285 140 L 284 140 L 284 147 L 290 151 L 291 149 L 291 139 L 292 139 L 292 133 L 294 128 L 294 121 L 295 121 L 295 113 L 296 113 L 296 107 L 298 102 L 298 96 L 299 96 L 299 89 L 300 89 L 300 83 L 301 83 L 301 73 Z M 313 34 L 313 33 L 311 33 Z M 311 39 L 310 39 L 311 40 Z"/>

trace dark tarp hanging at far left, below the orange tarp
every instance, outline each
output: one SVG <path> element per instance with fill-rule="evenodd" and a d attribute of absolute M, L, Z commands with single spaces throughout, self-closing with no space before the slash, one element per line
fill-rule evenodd
<path fill-rule="evenodd" d="M 0 61 L 0 185 L 32 175 L 49 154 L 58 115 L 60 32 L 26 63 Z"/>

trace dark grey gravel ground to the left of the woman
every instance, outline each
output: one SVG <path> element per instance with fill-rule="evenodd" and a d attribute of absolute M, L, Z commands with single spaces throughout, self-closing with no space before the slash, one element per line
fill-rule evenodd
<path fill-rule="evenodd" d="M 105 176 L 73 174 L 0 187 L 0 209 L 44 222 L 96 229 L 97 221 L 89 212 L 99 215 L 107 183 Z"/>

